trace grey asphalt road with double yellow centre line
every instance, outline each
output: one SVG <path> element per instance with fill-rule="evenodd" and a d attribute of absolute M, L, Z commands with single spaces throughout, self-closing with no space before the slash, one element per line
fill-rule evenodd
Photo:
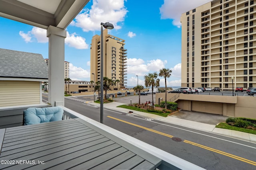
<path fill-rule="evenodd" d="M 126 100 L 133 97 L 138 98 Z M 100 121 L 100 108 L 88 100 L 93 96 L 65 98 L 65 107 Z M 110 109 L 104 109 L 104 124 L 208 170 L 256 169 L 255 143 Z"/>

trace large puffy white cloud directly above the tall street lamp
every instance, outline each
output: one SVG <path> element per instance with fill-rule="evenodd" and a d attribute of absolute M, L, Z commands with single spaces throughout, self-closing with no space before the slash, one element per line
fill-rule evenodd
<path fill-rule="evenodd" d="M 93 0 L 91 9 L 82 10 L 71 24 L 86 32 L 100 30 L 101 22 L 110 22 L 115 29 L 120 29 L 118 22 L 124 21 L 128 12 L 124 1 L 126 0 Z"/>

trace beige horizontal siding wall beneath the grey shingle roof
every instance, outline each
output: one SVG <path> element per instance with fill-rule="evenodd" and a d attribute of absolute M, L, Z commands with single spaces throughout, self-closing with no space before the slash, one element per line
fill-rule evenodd
<path fill-rule="evenodd" d="M 0 107 L 40 104 L 40 83 L 0 81 Z"/>

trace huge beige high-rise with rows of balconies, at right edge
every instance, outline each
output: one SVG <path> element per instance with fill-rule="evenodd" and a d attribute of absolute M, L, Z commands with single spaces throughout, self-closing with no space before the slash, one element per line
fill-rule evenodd
<path fill-rule="evenodd" d="M 213 0 L 182 14 L 182 86 L 256 87 L 256 2 Z"/>

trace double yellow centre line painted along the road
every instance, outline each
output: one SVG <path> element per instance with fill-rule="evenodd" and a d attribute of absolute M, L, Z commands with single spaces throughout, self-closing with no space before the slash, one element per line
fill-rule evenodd
<path fill-rule="evenodd" d="M 154 133 L 158 133 L 158 134 L 160 134 L 160 135 L 164 135 L 164 136 L 166 136 L 166 137 L 170 137 L 170 138 L 173 137 L 172 135 L 168 135 L 168 134 L 166 134 L 166 133 L 162 133 L 162 132 L 159 132 L 159 131 L 155 131 L 155 130 L 153 130 L 153 129 L 149 129 L 149 128 L 144 127 L 144 126 L 136 125 L 136 124 L 130 123 L 130 122 L 128 122 L 128 121 L 124 121 L 124 120 L 121 120 L 121 119 L 117 119 L 117 118 L 112 117 L 112 116 L 107 116 L 107 117 L 109 117 L 109 118 L 111 118 L 111 119 L 115 119 L 115 120 L 121 121 L 121 122 L 124 122 L 124 123 L 127 123 L 127 124 L 130 124 L 130 125 L 133 125 L 133 126 L 136 126 L 136 127 L 140 127 L 140 128 L 142 128 L 142 129 L 146 129 L 146 130 L 151 131 L 151 132 L 154 132 Z M 190 144 L 190 145 L 194 145 L 194 146 L 200 147 L 200 148 L 202 148 L 202 149 L 210 150 L 210 151 L 212 151 L 212 152 L 216 152 L 216 153 L 219 153 L 219 154 L 228 156 L 228 157 L 230 157 L 230 158 L 234 158 L 234 159 L 236 159 L 236 160 L 240 160 L 240 161 L 242 161 L 242 162 L 246 162 L 246 163 L 248 163 L 248 164 L 252 164 L 252 165 L 256 166 L 256 162 L 254 162 L 254 161 L 252 161 L 252 160 L 248 160 L 248 159 L 245 159 L 245 158 L 242 158 L 242 157 L 233 155 L 233 154 L 229 154 L 229 153 L 223 152 L 223 151 L 221 151 L 221 150 L 217 150 L 217 149 L 213 149 L 213 148 L 210 148 L 210 147 L 206 147 L 206 146 L 204 146 L 204 145 L 200 145 L 200 144 L 198 144 L 198 143 L 194 143 L 194 142 L 191 142 L 191 141 L 184 140 L 183 142 L 184 142 L 184 143 L 188 143 L 188 144 Z"/>

